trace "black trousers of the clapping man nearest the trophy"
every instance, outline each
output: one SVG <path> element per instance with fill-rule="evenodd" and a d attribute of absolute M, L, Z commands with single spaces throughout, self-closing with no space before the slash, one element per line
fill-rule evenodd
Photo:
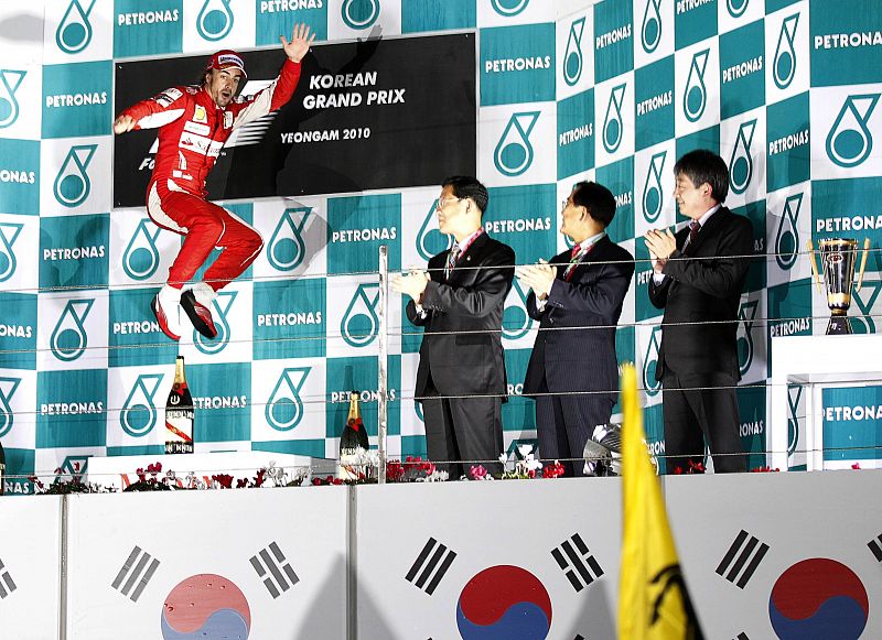
<path fill-rule="evenodd" d="M 739 436 L 738 380 L 725 373 L 666 370 L 662 384 L 667 473 L 674 474 L 677 467 L 686 473 L 690 460 L 702 462 L 706 442 L 714 471 L 746 471 Z"/>

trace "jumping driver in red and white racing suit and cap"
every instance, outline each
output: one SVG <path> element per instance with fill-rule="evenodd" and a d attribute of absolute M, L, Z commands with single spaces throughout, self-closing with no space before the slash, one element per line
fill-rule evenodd
<path fill-rule="evenodd" d="M 232 211 L 206 200 L 205 178 L 233 131 L 279 109 L 291 99 L 300 79 L 300 61 L 315 40 L 305 24 L 294 26 L 290 42 L 279 36 L 288 59 L 279 77 L 248 98 L 235 98 L 245 64 L 234 51 L 214 54 L 205 67 L 202 86 L 165 89 L 122 111 L 114 132 L 159 128 L 159 150 L 147 191 L 147 214 L 163 229 L 184 236 L 169 280 L 151 303 L 159 326 L 173 340 L 181 339 L 179 306 L 193 326 L 208 338 L 217 336 L 212 302 L 260 253 L 260 234 Z M 186 284 L 212 250 L 223 249 L 205 272 L 205 281 Z"/>

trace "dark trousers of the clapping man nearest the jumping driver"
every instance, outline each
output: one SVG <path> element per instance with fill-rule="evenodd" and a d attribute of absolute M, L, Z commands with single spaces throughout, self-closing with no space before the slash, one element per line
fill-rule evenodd
<path fill-rule="evenodd" d="M 469 476 L 473 465 L 501 474 L 502 398 L 442 398 L 431 380 L 427 395 L 431 398 L 422 401 L 426 453 L 438 469 L 448 471 L 451 480 Z"/>

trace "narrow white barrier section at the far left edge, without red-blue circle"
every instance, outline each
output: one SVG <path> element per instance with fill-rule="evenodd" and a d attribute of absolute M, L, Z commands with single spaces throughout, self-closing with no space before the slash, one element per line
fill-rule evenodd
<path fill-rule="evenodd" d="M 0 638 L 58 636 L 61 498 L 0 498 Z"/>

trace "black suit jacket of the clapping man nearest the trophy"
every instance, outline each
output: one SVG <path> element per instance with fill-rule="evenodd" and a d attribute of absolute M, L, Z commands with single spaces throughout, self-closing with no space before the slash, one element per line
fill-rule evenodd
<path fill-rule="evenodd" d="M 677 249 L 663 270 L 667 278 L 658 285 L 649 279 L 649 301 L 665 310 L 656 379 L 670 369 L 728 373 L 740 380 L 738 310 L 753 254 L 753 229 L 747 218 L 721 207 L 701 227 L 684 260 L 688 236 L 688 227 L 676 234 Z"/>

